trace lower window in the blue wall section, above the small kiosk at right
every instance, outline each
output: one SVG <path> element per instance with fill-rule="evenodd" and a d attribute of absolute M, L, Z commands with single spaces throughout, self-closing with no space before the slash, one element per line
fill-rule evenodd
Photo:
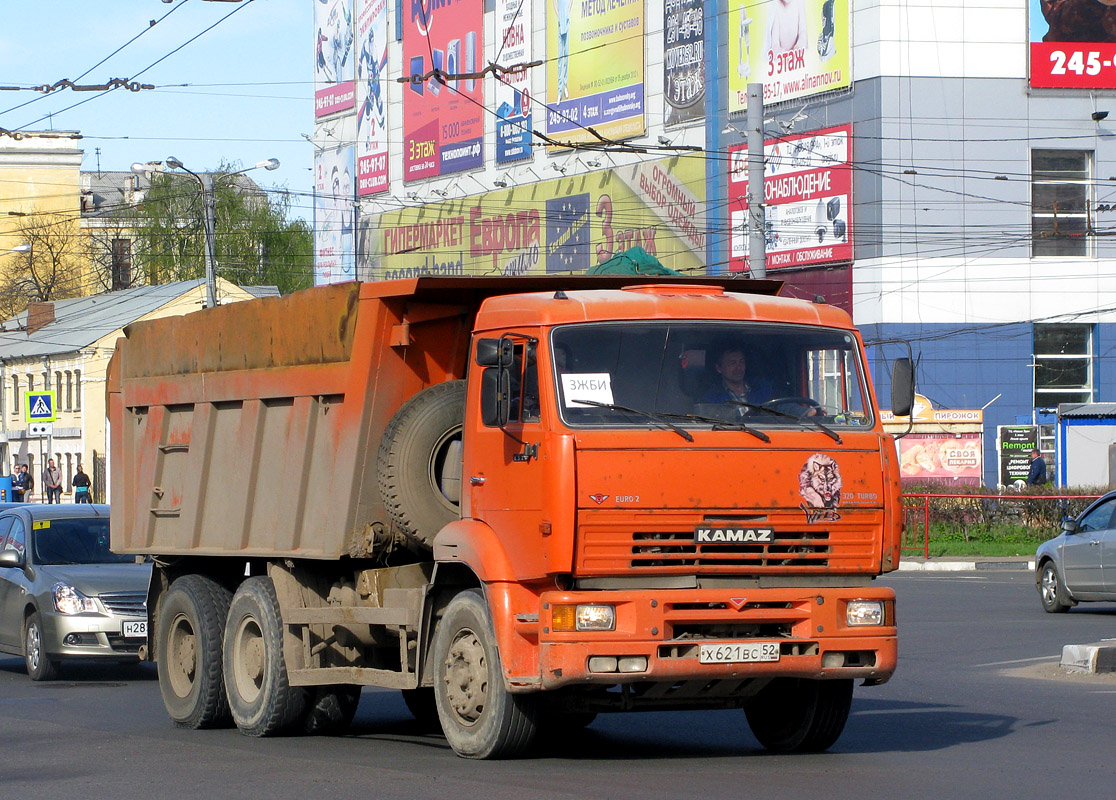
<path fill-rule="evenodd" d="M 1093 399 L 1093 328 L 1035 326 L 1035 407 Z"/>

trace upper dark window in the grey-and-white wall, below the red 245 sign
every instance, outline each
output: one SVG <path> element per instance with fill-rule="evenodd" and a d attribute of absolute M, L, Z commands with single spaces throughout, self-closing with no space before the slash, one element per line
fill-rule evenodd
<path fill-rule="evenodd" d="M 1093 153 L 1031 151 L 1031 256 L 1090 256 Z"/>

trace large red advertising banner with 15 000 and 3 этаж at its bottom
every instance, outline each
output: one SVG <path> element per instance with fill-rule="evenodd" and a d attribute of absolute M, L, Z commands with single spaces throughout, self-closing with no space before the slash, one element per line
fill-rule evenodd
<path fill-rule="evenodd" d="M 423 76 L 484 67 L 484 0 L 403 3 L 403 69 Z M 403 90 L 403 180 L 484 165 L 484 81 L 430 77 Z"/>

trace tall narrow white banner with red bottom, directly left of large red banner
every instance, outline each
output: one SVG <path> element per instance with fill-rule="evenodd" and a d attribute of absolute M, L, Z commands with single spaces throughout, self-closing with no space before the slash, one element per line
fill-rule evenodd
<path fill-rule="evenodd" d="M 356 0 L 356 193 L 387 191 L 387 0 Z"/>

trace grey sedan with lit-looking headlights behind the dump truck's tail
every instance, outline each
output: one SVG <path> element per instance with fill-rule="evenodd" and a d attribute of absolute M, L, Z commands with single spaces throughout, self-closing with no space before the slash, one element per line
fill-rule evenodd
<path fill-rule="evenodd" d="M 47 681 L 62 659 L 138 659 L 151 565 L 108 549 L 107 505 L 0 512 L 0 652 Z"/>

